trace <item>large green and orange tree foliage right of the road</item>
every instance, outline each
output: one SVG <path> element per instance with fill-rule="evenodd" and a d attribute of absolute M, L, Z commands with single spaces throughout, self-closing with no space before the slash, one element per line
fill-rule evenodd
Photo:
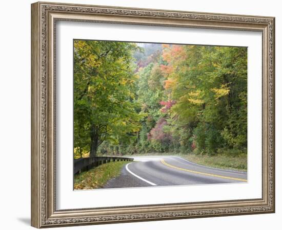
<path fill-rule="evenodd" d="M 171 45 L 163 56 L 174 123 L 196 124 L 195 151 L 246 148 L 247 49 Z"/>

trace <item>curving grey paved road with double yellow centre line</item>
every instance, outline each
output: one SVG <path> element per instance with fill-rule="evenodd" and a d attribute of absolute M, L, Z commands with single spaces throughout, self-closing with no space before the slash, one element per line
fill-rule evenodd
<path fill-rule="evenodd" d="M 197 165 L 178 156 L 138 156 L 104 188 L 246 183 L 247 173 Z"/>

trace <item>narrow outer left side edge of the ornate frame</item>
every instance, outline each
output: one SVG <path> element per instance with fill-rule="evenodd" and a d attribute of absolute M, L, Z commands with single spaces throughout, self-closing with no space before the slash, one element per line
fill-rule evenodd
<path fill-rule="evenodd" d="M 31 225 L 41 226 L 41 31 L 38 4 L 31 5 Z"/>

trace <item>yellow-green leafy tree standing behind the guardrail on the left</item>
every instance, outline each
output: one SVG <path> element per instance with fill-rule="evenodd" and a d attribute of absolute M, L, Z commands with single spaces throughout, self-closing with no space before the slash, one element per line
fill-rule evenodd
<path fill-rule="evenodd" d="M 128 42 L 74 41 L 74 148 L 96 155 L 104 142 L 128 144 L 139 131 Z"/>

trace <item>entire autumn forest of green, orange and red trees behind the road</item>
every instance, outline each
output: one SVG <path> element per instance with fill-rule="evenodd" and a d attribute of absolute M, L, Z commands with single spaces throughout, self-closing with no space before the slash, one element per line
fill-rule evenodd
<path fill-rule="evenodd" d="M 73 44 L 75 158 L 247 156 L 247 48 Z"/>

